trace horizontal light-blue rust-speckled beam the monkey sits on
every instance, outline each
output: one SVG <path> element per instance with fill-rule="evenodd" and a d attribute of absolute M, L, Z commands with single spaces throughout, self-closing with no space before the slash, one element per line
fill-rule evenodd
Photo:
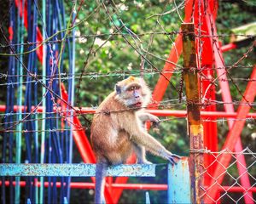
<path fill-rule="evenodd" d="M 0 176 L 93 177 L 95 164 L 0 164 Z M 154 177 L 154 164 L 117 165 L 108 167 L 107 176 Z"/>

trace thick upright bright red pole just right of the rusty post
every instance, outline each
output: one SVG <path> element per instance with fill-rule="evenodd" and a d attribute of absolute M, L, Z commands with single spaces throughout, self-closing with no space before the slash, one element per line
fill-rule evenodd
<path fill-rule="evenodd" d="M 198 64 L 201 68 L 201 97 L 204 97 L 205 101 L 214 101 L 215 97 L 215 85 L 212 83 L 214 78 L 213 73 L 213 55 L 212 55 L 212 41 L 210 37 L 201 37 L 201 35 L 210 36 L 211 30 L 208 29 L 207 24 L 207 8 L 205 8 L 205 3 L 199 3 L 199 1 L 195 1 L 195 12 L 194 12 L 194 20 L 195 20 L 195 33 L 198 36 L 197 38 L 197 56 L 198 56 Z M 207 7 L 211 14 L 217 14 L 218 11 L 218 3 L 214 1 L 207 1 Z M 203 33 L 201 33 L 203 31 Z M 203 111 L 216 111 L 216 105 L 206 105 L 202 107 Z M 216 117 L 212 117 L 212 122 L 203 122 L 204 127 L 204 146 L 207 147 L 207 150 L 218 151 L 218 130 L 217 130 L 217 122 L 214 122 Z M 214 161 L 214 156 L 205 155 L 204 156 L 204 165 L 207 168 L 207 173 L 204 174 L 204 184 L 210 184 L 212 173 L 215 171 L 215 165 L 211 165 Z"/>

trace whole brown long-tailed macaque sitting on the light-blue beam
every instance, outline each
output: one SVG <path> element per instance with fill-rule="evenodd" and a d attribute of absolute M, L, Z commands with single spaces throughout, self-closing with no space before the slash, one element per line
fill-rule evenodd
<path fill-rule="evenodd" d="M 159 122 L 157 116 L 143 111 L 150 99 L 151 93 L 144 80 L 129 77 L 118 82 L 113 93 L 97 109 L 90 135 L 97 160 L 96 203 L 102 203 L 107 167 L 125 163 L 133 151 L 138 163 L 150 163 L 145 150 L 172 164 L 176 163 L 174 158 L 180 158 L 166 150 L 143 127 L 146 121 Z"/>

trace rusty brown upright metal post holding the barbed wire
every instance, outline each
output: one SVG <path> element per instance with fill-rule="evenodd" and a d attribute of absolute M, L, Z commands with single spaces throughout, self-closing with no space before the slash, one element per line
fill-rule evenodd
<path fill-rule="evenodd" d="M 183 23 L 183 78 L 187 99 L 188 133 L 190 140 L 189 172 L 191 201 L 203 203 L 203 127 L 201 125 L 200 96 L 197 77 L 195 26 Z"/>

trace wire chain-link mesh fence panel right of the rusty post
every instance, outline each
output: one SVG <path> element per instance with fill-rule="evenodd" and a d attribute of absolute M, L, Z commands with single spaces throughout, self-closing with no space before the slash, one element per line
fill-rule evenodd
<path fill-rule="evenodd" d="M 198 153 L 200 152 L 200 153 Z M 212 157 L 212 163 L 203 165 L 204 171 L 198 178 L 205 178 L 201 184 L 201 199 L 213 203 L 255 203 L 256 202 L 256 153 L 246 148 L 241 152 L 229 149 L 212 152 L 201 150 L 193 154 Z M 245 158 L 247 167 L 241 163 Z M 227 157 L 230 162 L 227 167 Z M 247 174 L 248 180 L 245 180 Z"/>

